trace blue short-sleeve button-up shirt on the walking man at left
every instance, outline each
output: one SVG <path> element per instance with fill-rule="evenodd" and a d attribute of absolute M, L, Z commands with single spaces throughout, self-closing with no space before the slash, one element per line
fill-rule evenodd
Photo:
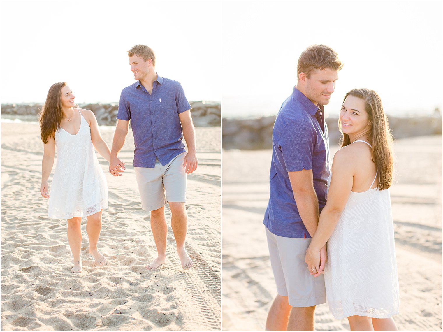
<path fill-rule="evenodd" d="M 181 84 L 157 75 L 151 94 L 140 81 L 120 94 L 117 119 L 131 120 L 134 133 L 134 167 L 154 168 L 186 152 L 179 113 L 191 109 Z"/>

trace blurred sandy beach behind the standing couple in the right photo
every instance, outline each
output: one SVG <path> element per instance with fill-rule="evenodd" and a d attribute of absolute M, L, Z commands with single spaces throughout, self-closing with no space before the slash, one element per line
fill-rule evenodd
<path fill-rule="evenodd" d="M 334 154 L 338 147 L 331 148 Z M 394 142 L 390 188 L 400 287 L 400 331 L 442 329 L 442 137 Z M 264 330 L 276 296 L 262 224 L 269 198 L 271 150 L 222 151 L 222 329 Z M 326 305 L 317 331 L 349 331 Z"/>

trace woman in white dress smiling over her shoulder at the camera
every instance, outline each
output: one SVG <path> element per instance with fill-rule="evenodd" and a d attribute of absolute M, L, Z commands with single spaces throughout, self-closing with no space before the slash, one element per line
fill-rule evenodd
<path fill-rule="evenodd" d="M 399 291 L 389 187 L 392 136 L 378 94 L 353 89 L 345 96 L 339 128 L 342 148 L 335 153 L 326 206 L 307 249 L 306 263 L 323 273 L 326 299 L 351 331 L 396 331 Z"/>

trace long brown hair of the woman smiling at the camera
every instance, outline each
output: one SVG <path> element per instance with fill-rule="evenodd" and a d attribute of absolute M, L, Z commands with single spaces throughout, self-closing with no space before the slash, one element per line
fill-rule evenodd
<path fill-rule="evenodd" d="M 368 135 L 368 141 L 372 145 L 372 161 L 377 168 L 378 189 L 388 189 L 393 181 L 393 164 L 394 158 L 392 154 L 392 134 L 389 129 L 388 117 L 383 111 L 380 96 L 374 90 L 369 89 L 352 89 L 346 97 L 354 96 L 365 101 L 365 111 L 371 122 L 371 131 Z M 342 133 L 341 147 L 350 145 L 351 141 L 348 134 L 344 134 L 341 128 L 341 122 L 338 121 L 338 128 Z"/>

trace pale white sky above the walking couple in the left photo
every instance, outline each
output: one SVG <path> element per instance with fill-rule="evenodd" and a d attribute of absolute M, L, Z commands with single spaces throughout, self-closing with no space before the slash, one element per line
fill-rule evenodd
<path fill-rule="evenodd" d="M 220 1 L 2 0 L 1 102 L 44 102 L 66 81 L 76 102 L 118 102 L 146 44 L 187 99 L 221 100 Z"/>

